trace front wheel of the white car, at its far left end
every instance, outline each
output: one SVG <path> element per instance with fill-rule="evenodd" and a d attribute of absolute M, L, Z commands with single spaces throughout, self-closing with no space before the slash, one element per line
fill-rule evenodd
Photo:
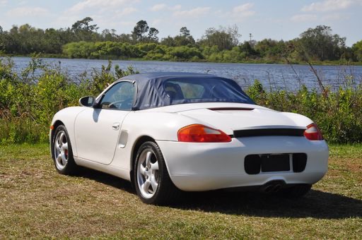
<path fill-rule="evenodd" d="M 78 166 L 74 162 L 69 134 L 64 125 L 57 126 L 54 132 L 52 138 L 52 158 L 55 169 L 57 169 L 59 174 L 71 175 L 77 172 Z"/>

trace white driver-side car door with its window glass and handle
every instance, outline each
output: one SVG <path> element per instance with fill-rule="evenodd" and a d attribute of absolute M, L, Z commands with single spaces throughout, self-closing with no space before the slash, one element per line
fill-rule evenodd
<path fill-rule="evenodd" d="M 98 100 L 78 114 L 75 121 L 77 157 L 110 164 L 118 145 L 124 118 L 132 109 L 134 83 L 115 83 Z"/>

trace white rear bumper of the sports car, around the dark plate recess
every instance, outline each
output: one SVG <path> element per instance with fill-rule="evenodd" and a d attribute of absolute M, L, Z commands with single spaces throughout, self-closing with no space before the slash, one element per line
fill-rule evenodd
<path fill-rule="evenodd" d="M 269 181 L 285 184 L 315 184 L 327 172 L 328 147 L 325 140 L 303 137 L 264 136 L 233 138 L 230 143 L 180 143 L 157 141 L 170 178 L 184 191 L 262 186 Z M 307 163 L 303 172 L 260 172 L 247 174 L 247 155 L 303 152 Z"/>

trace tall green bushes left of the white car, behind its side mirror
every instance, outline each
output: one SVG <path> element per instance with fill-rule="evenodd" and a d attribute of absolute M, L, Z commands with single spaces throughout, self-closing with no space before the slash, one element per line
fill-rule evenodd
<path fill-rule="evenodd" d="M 135 73 L 122 71 L 112 63 L 101 71 L 86 74 L 75 83 L 60 68 L 33 59 L 20 74 L 13 71 L 10 59 L 0 59 L 0 143 L 37 143 L 48 139 L 52 116 L 60 109 L 78 105 L 86 95 L 98 95 L 108 84 Z M 40 73 L 35 74 L 35 72 Z"/>

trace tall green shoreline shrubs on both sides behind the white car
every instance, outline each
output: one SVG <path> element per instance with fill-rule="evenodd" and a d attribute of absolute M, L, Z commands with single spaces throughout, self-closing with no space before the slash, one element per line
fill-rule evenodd
<path fill-rule="evenodd" d="M 117 65 L 112 71 L 109 62 L 74 81 L 41 59 L 32 59 L 21 73 L 14 71 L 11 59 L 0 59 L 0 144 L 46 142 L 55 112 L 78 105 L 84 95 L 98 95 L 107 84 L 132 73 L 132 68 L 123 71 Z M 316 80 L 318 90 L 300 85 L 296 92 L 268 92 L 255 80 L 245 92 L 264 107 L 308 116 L 331 143 L 362 143 L 362 85 L 346 76 L 343 88 L 331 91 L 317 76 Z"/>

